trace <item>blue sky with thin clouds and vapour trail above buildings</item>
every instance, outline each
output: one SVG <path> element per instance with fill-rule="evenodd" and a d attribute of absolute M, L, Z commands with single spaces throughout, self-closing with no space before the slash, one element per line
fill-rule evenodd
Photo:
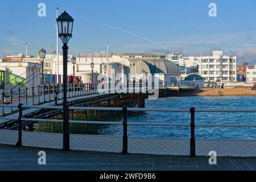
<path fill-rule="evenodd" d="M 46 4 L 46 17 L 38 4 Z M 208 15 L 209 3 L 217 17 Z M 0 57 L 25 53 L 36 56 L 40 48 L 56 48 L 56 6 L 75 19 L 69 53 L 181 52 L 211 55 L 221 49 L 237 55 L 238 62 L 256 64 L 256 1 L 231 0 L 0 0 Z M 61 43 L 60 43 L 61 48 Z"/>

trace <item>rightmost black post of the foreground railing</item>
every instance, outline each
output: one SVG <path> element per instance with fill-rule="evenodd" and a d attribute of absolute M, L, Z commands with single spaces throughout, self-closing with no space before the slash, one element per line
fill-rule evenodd
<path fill-rule="evenodd" d="M 195 107 L 191 107 L 191 138 L 190 138 L 190 157 L 196 156 L 196 138 L 195 138 Z"/>

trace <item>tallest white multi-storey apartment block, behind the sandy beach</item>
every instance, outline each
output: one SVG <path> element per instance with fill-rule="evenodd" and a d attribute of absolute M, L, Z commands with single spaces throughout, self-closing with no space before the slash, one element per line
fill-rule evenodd
<path fill-rule="evenodd" d="M 204 82 L 237 81 L 237 57 L 225 56 L 222 51 L 213 51 L 213 56 L 196 57 L 199 75 Z"/>

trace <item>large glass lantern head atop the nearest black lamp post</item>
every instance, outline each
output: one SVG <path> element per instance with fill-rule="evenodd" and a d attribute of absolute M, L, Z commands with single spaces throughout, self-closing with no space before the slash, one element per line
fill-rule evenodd
<path fill-rule="evenodd" d="M 59 38 L 72 38 L 73 22 L 74 19 L 66 11 L 57 18 Z"/>

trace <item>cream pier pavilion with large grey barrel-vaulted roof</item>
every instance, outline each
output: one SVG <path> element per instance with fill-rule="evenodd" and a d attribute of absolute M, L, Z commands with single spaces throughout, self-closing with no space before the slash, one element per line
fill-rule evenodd
<path fill-rule="evenodd" d="M 94 68 L 90 64 L 94 63 Z M 108 68 L 104 70 L 104 66 Z M 53 69 L 56 69 L 56 61 L 53 61 Z M 59 74 L 62 75 L 63 57 L 59 57 Z M 113 72 L 114 71 L 114 72 Z M 93 77 L 92 77 L 93 72 Z M 73 64 L 68 59 L 68 73 L 73 75 Z M 90 78 L 94 81 L 100 81 L 102 77 L 111 79 L 122 73 L 118 80 L 135 81 L 147 80 L 148 75 L 154 75 L 159 78 L 159 86 L 177 85 L 180 80 L 179 67 L 166 59 L 166 56 L 156 55 L 154 53 L 112 53 L 109 59 L 106 55 L 97 55 L 96 53 L 86 53 L 77 57 L 75 64 L 75 76 L 81 78 L 83 82 L 88 82 Z M 119 74 L 120 75 L 120 74 Z M 123 78 L 126 76 L 127 80 Z M 110 80 L 111 81 L 111 80 Z"/>

